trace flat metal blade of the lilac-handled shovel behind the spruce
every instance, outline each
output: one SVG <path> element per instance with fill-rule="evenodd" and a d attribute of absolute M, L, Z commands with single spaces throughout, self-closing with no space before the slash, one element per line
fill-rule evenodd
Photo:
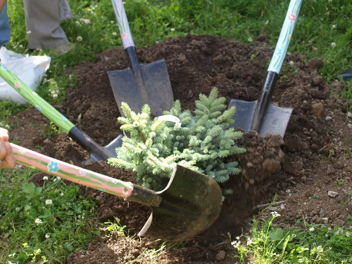
<path fill-rule="evenodd" d="M 121 102 L 126 102 L 132 111 L 138 113 L 144 104 L 148 104 L 151 114 L 162 115 L 170 110 L 174 96 L 166 69 L 165 60 L 150 64 L 139 64 L 140 74 L 132 68 L 108 71 L 115 100 L 122 113 Z"/>

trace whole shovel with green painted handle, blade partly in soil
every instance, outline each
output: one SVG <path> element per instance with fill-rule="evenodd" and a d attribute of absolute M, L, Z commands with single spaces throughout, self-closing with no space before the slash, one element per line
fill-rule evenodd
<path fill-rule="evenodd" d="M 106 161 L 108 158 L 116 157 L 115 149 L 122 145 L 122 135 L 119 135 L 105 147 L 98 145 L 86 133 L 70 122 L 64 115 L 58 112 L 48 102 L 41 98 L 31 88 L 26 86 L 16 75 L 14 75 L 4 64 L 0 62 L 0 77 L 10 84 L 18 93 L 26 98 L 38 111 L 44 114 L 58 127 L 60 127 L 70 138 L 75 140 L 89 152 L 90 161 Z"/>

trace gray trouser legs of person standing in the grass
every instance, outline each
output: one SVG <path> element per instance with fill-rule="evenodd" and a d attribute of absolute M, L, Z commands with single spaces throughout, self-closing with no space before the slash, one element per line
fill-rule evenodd
<path fill-rule="evenodd" d="M 66 0 L 23 0 L 23 3 L 29 49 L 51 49 L 68 42 L 60 27 L 61 18 L 71 15 Z"/>

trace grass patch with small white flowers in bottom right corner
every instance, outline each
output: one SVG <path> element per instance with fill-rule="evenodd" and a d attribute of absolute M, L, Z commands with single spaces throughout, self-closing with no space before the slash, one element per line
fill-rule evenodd
<path fill-rule="evenodd" d="M 351 215 L 344 228 L 308 225 L 305 222 L 292 229 L 274 227 L 276 212 L 258 223 L 253 218 L 252 234 L 237 237 L 231 244 L 240 263 L 351 263 Z"/>

